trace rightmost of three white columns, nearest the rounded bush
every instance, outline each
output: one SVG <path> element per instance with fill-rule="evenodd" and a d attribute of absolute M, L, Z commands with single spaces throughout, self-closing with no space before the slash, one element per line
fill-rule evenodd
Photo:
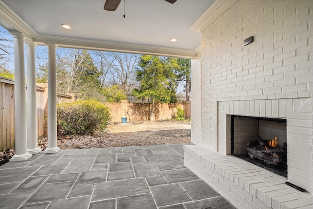
<path fill-rule="evenodd" d="M 56 88 L 56 65 L 55 45 L 48 46 L 48 147 L 45 153 L 60 151 L 57 143 L 57 88 Z"/>

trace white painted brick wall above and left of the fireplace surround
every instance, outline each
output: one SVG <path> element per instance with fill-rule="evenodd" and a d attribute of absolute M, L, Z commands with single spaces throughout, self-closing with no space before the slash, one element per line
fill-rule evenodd
<path fill-rule="evenodd" d="M 238 0 L 201 31 L 201 144 L 217 150 L 218 101 L 312 98 L 312 25 L 311 0 Z"/>

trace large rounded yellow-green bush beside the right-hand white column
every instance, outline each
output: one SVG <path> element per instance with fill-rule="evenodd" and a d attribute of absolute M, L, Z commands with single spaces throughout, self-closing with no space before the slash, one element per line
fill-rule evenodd
<path fill-rule="evenodd" d="M 57 104 L 58 131 L 62 135 L 85 135 L 102 131 L 110 109 L 95 99 Z"/>

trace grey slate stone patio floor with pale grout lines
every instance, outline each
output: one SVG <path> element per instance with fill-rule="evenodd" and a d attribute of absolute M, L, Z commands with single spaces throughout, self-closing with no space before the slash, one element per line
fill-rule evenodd
<path fill-rule="evenodd" d="M 183 145 L 39 153 L 0 166 L 1 209 L 235 209 L 183 164 Z"/>

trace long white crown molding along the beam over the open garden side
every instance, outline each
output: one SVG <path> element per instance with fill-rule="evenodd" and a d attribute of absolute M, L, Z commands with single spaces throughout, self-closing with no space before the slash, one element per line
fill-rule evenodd
<path fill-rule="evenodd" d="M 89 50 L 114 51 L 135 54 L 148 54 L 157 56 L 179 57 L 193 59 L 194 50 L 168 48 L 160 46 L 134 45 L 116 42 L 103 42 L 86 39 L 72 39 L 52 36 L 36 36 L 34 42 L 39 45 L 55 44 L 58 47 L 71 47 Z"/>

